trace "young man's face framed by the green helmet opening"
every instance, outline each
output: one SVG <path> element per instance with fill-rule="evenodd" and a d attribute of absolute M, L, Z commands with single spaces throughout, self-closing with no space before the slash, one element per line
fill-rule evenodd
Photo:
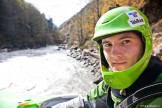
<path fill-rule="evenodd" d="M 112 71 L 122 71 L 134 65 L 143 55 L 141 38 L 125 32 L 102 39 L 104 56 Z"/>

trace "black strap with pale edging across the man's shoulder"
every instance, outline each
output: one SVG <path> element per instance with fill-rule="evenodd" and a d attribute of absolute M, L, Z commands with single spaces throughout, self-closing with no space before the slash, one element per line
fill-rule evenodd
<path fill-rule="evenodd" d="M 160 96 L 162 96 L 162 83 L 152 84 L 127 97 L 116 108 L 132 108 L 142 101 Z"/>

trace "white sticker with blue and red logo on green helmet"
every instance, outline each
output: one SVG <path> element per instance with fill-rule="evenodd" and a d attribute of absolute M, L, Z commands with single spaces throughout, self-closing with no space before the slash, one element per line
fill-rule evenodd
<path fill-rule="evenodd" d="M 128 23 L 130 26 L 136 27 L 136 26 L 145 24 L 144 18 L 140 16 L 140 14 L 137 11 L 135 10 L 129 11 L 129 12 L 126 12 L 126 14 L 129 17 Z"/>

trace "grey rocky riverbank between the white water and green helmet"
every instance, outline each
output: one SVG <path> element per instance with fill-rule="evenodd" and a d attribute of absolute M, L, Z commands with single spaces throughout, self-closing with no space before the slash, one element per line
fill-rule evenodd
<path fill-rule="evenodd" d="M 89 71 L 96 77 L 96 80 L 93 81 L 94 84 L 98 84 L 101 78 L 101 70 L 99 66 L 99 55 L 96 48 L 91 49 L 80 49 L 78 46 L 73 45 L 67 47 L 66 45 L 60 45 L 58 50 L 68 49 L 69 53 L 67 56 L 70 56 L 81 63 L 81 66 L 88 68 Z"/>

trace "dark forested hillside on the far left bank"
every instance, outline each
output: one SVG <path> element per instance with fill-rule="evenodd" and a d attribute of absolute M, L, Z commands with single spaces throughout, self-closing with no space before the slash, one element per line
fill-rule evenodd
<path fill-rule="evenodd" d="M 24 0 L 0 0 L 0 49 L 38 48 L 61 42 L 52 18 Z"/>

